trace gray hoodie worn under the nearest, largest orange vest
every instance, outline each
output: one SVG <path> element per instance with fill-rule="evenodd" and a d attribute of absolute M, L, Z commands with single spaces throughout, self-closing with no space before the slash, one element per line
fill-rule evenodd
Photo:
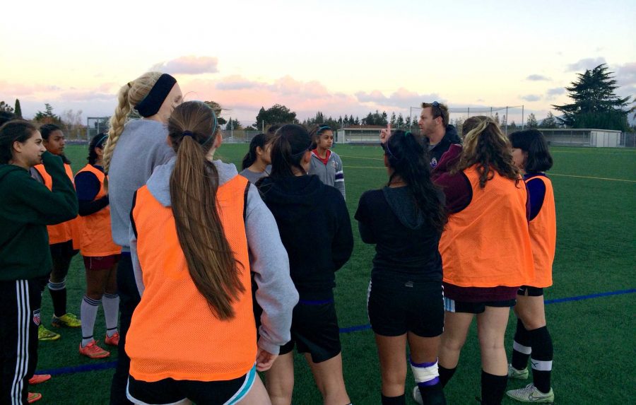
<path fill-rule="evenodd" d="M 163 206 L 170 206 L 170 175 L 175 168 L 176 158 L 155 168 L 148 179 L 148 191 Z M 218 170 L 219 184 L 224 184 L 238 175 L 235 165 L 214 160 Z M 249 266 L 254 272 L 257 303 L 263 308 L 259 328 L 259 347 L 272 354 L 278 354 L 280 346 L 290 341 L 290 327 L 293 307 L 298 303 L 298 292 L 289 275 L 287 251 L 278 235 L 276 221 L 254 184 L 249 184 L 247 209 L 245 210 L 245 235 L 249 248 Z M 130 227 L 131 228 L 131 227 Z M 141 265 L 137 256 L 137 240 L 129 230 L 130 251 L 139 295 L 143 295 Z"/>

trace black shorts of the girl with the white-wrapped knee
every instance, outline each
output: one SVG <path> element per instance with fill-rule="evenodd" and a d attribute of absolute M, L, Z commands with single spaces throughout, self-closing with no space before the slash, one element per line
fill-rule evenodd
<path fill-rule="evenodd" d="M 441 281 L 413 281 L 406 274 L 373 274 L 367 295 L 371 329 L 382 336 L 410 331 L 423 337 L 444 331 Z"/>

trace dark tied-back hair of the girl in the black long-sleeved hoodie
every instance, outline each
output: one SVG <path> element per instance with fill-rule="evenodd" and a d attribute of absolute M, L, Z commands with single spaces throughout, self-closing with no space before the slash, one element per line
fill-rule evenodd
<path fill-rule="evenodd" d="M 298 124 L 285 124 L 276 131 L 276 139 L 271 146 L 271 174 L 277 179 L 292 177 L 294 168 L 302 168 L 302 157 L 310 150 L 312 139 L 307 129 Z"/>

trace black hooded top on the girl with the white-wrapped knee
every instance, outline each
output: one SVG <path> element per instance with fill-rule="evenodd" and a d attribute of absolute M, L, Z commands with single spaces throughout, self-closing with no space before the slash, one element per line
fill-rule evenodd
<path fill-rule="evenodd" d="M 355 219 L 363 242 L 375 244 L 374 274 L 395 272 L 419 276 L 419 281 L 442 281 L 442 257 L 437 250 L 441 233 L 425 225 L 408 187 L 365 192 Z"/>

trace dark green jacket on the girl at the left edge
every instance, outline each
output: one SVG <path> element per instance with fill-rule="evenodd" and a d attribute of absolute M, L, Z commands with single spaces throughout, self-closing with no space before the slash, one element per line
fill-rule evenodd
<path fill-rule="evenodd" d="M 16 165 L 0 165 L 0 281 L 49 274 L 52 269 L 46 225 L 77 216 L 77 194 L 59 157 L 42 154 L 52 191 Z"/>

